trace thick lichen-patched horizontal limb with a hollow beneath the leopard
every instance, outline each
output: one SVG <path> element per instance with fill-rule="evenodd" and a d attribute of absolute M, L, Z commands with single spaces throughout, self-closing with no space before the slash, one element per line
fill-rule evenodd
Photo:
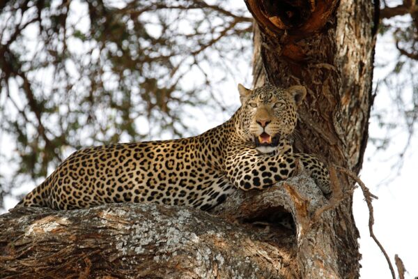
<path fill-rule="evenodd" d="M 338 278 L 334 213 L 312 218 L 327 203 L 302 173 L 236 192 L 212 214 L 155 204 L 13 209 L 0 216 L 0 278 Z M 285 212 L 296 231 L 277 223 Z"/>

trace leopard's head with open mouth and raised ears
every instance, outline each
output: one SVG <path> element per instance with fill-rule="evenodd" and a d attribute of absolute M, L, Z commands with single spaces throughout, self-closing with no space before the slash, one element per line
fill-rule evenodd
<path fill-rule="evenodd" d="M 296 110 L 307 89 L 300 85 L 288 89 L 267 85 L 250 90 L 238 84 L 238 91 L 242 105 L 238 133 L 254 142 L 262 153 L 276 150 L 295 129 Z"/>

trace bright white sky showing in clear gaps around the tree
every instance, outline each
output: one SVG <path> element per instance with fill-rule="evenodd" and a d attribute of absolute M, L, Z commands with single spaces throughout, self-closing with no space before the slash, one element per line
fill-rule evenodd
<path fill-rule="evenodd" d="M 243 2 L 243 1 L 240 1 Z M 376 47 L 376 61 L 396 61 L 397 52 L 394 49 L 394 42 L 391 36 L 385 36 L 378 40 Z M 389 65 L 390 66 L 390 65 Z M 393 65 L 392 65 L 393 66 Z M 222 89 L 227 92 L 224 95 L 225 103 L 231 107 L 238 107 L 238 91 L 237 83 L 242 82 L 246 86 L 250 86 L 251 77 L 249 73 L 251 66 L 248 61 L 248 70 L 245 71 L 237 79 L 231 80 Z M 390 68 L 390 67 L 389 67 Z M 375 71 L 375 82 L 382 80 L 387 75 L 387 69 Z M 408 89 L 406 89 L 408 91 Z M 385 91 L 381 91 L 376 97 L 375 107 L 381 109 L 392 107 L 392 99 L 388 97 Z M 196 113 L 199 109 L 196 109 Z M 388 110 L 387 119 L 393 119 L 396 115 L 392 114 L 393 110 Z M 220 119 L 210 119 L 206 116 L 199 117 L 194 126 L 199 132 L 204 132 L 208 128 L 222 123 L 228 116 Z M 370 135 L 371 137 L 384 137 L 386 131 L 382 130 L 378 123 L 371 119 Z M 169 136 L 167 136 L 168 138 Z M 157 140 L 157 139 L 154 139 Z M 369 144 L 365 153 L 365 160 L 361 172 L 361 178 L 371 190 L 371 193 L 379 197 L 373 201 L 375 225 L 374 232 L 382 245 L 385 247 L 394 261 L 394 255 L 398 254 L 405 268 L 409 273 L 406 278 L 415 278 L 418 276 L 418 237 L 417 237 L 417 165 L 418 165 L 418 143 L 416 137 L 412 140 L 408 153 L 404 158 L 403 168 L 399 176 L 396 176 L 393 164 L 396 162 L 396 152 L 401 150 L 405 144 L 405 133 L 398 133 L 392 138 L 391 145 L 387 151 L 376 152 L 374 146 Z M 10 139 L 4 133 L 0 137 L 0 146 L 2 150 L 13 151 L 14 147 L 10 144 Z M 7 170 L 4 173 L 7 173 Z M 395 176 L 395 177 L 394 177 Z M 389 183 L 387 177 L 394 177 Z M 26 188 L 29 192 L 30 188 Z M 13 207 L 17 203 L 16 199 L 6 199 L 6 206 Z M 363 200 L 362 192 L 358 188 L 354 195 L 353 211 L 357 228 L 360 232 L 360 252 L 362 253 L 362 269 L 361 278 L 392 278 L 385 257 L 380 252 L 376 243 L 369 237 L 369 211 Z M 1 211 L 0 211 L 1 213 Z M 394 266 L 396 269 L 396 266 Z"/>

